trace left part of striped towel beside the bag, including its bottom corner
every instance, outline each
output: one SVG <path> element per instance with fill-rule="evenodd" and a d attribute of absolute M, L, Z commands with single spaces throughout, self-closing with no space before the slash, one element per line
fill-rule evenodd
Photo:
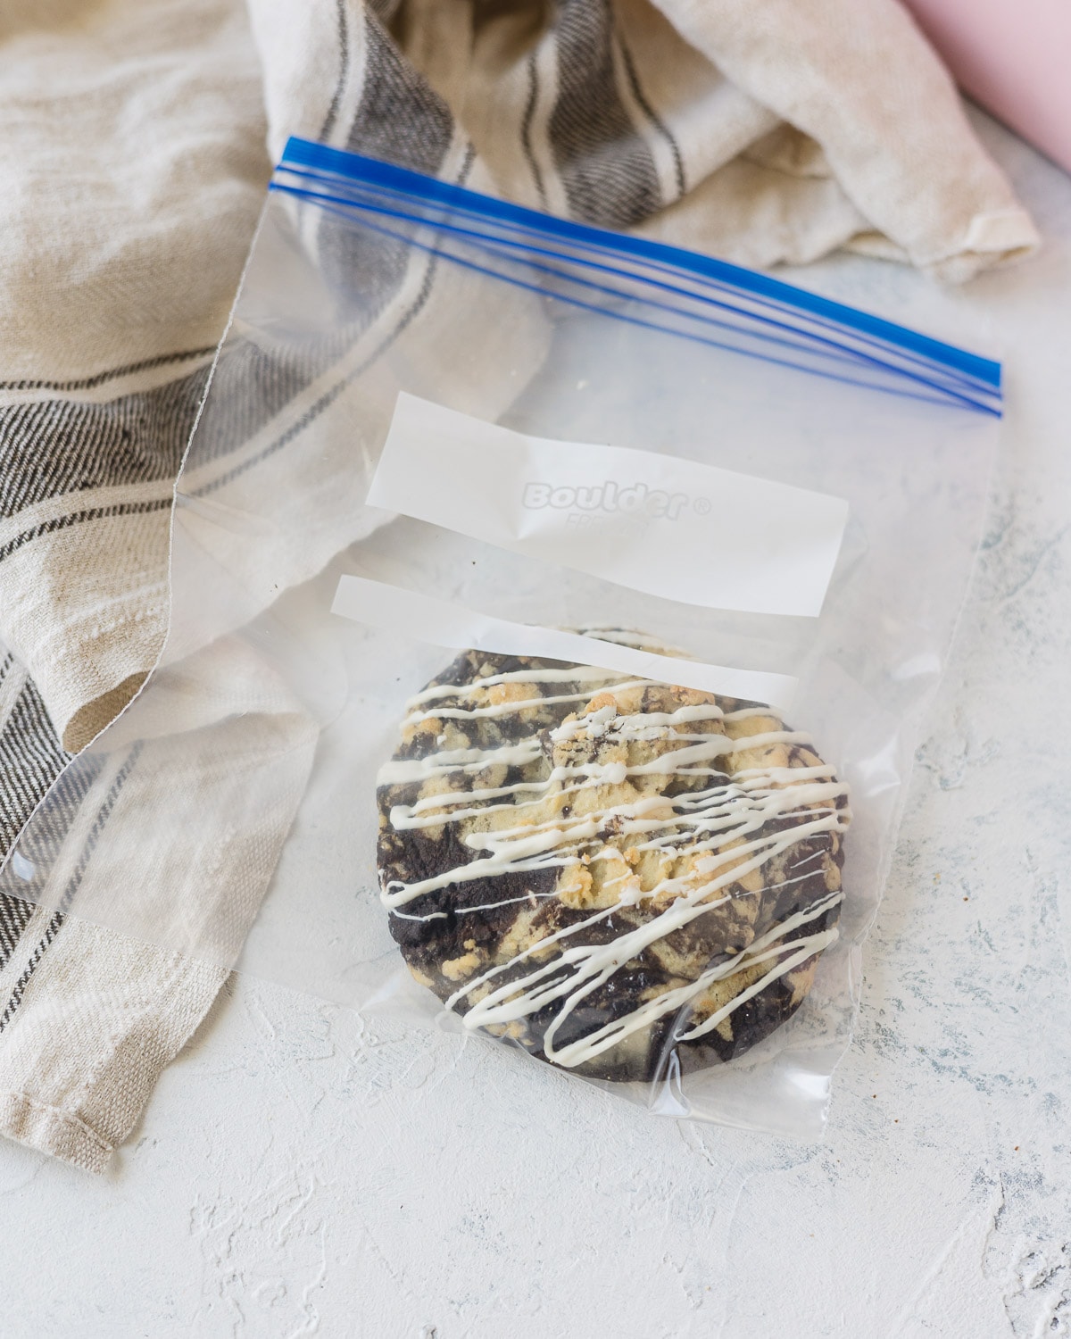
<path fill-rule="evenodd" d="M 167 621 L 174 475 L 268 161 L 245 11 L 0 12 L 0 856 Z M 225 977 L 0 897 L 0 1130 L 102 1170 Z"/>

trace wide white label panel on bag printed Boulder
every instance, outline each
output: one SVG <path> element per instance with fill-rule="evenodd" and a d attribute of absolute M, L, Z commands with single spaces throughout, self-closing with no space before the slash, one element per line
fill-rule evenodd
<path fill-rule="evenodd" d="M 817 616 L 847 502 L 657 451 L 526 437 L 400 394 L 372 506 L 633 590 Z"/>

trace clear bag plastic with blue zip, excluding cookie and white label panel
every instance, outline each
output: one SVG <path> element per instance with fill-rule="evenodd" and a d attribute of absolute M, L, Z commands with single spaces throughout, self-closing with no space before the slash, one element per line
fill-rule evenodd
<path fill-rule="evenodd" d="M 716 588 L 702 605 L 639 590 L 368 505 L 400 392 L 533 438 L 845 499 L 821 615 L 711 608 Z M 814 740 L 850 805 L 838 919 L 809 991 L 730 1059 L 681 1063 L 687 1004 L 640 1078 L 572 1067 L 660 1114 L 815 1134 L 999 416 L 987 359 L 707 257 L 293 141 L 178 482 L 161 663 L 52 787 L 0 890 L 412 1026 L 477 1027 L 486 1010 L 444 1011 L 406 969 L 376 870 L 376 778 L 407 703 L 462 649 L 408 596 L 489 627 L 589 635 L 594 691 L 623 679 L 600 641 L 780 676 L 794 694 L 778 720 Z M 439 482 L 447 513 L 474 486 L 465 471 Z M 672 548 L 672 533 L 645 542 Z M 341 577 L 407 596 L 395 617 L 343 617 Z M 517 1056 L 493 1044 L 489 1066 L 529 1062 L 531 1036 Z"/>

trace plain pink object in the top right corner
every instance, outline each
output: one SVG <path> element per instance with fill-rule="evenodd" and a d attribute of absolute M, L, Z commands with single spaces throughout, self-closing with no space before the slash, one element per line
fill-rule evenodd
<path fill-rule="evenodd" d="M 1071 0 L 905 0 L 960 87 L 1071 171 Z"/>

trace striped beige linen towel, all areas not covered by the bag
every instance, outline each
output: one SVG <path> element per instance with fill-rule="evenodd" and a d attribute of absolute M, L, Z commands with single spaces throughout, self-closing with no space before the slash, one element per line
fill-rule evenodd
<path fill-rule="evenodd" d="M 0 852 L 159 652 L 288 134 L 750 264 L 965 279 L 1036 242 L 896 0 L 20 0 L 0 55 Z M 102 1168 L 224 975 L 0 898 L 0 1131 Z"/>

